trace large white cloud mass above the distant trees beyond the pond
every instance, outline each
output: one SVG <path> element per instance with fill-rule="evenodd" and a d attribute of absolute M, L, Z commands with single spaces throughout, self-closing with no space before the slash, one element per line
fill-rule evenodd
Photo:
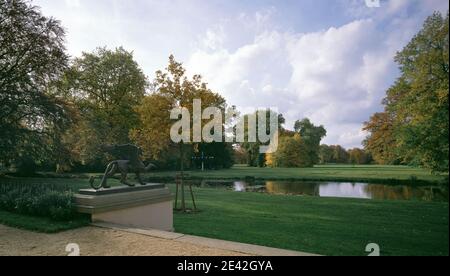
<path fill-rule="evenodd" d="M 257 35 L 235 52 L 195 52 L 188 68 L 200 72 L 230 104 L 275 106 L 287 127 L 311 118 L 328 129 L 327 143 L 359 146 L 362 122 L 379 109 L 394 48 L 378 43 L 372 20 L 326 31 Z"/>

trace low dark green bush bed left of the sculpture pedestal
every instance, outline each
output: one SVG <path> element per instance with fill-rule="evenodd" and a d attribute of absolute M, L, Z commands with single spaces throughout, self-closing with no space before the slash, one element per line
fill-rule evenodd
<path fill-rule="evenodd" d="M 2 181 L 0 210 L 67 221 L 77 215 L 72 196 L 66 185 Z"/>

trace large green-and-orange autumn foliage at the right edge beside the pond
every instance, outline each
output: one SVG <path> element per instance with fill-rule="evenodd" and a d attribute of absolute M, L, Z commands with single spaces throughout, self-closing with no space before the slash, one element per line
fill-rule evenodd
<path fill-rule="evenodd" d="M 366 148 L 380 163 L 398 158 L 448 172 L 448 23 L 448 13 L 445 18 L 434 13 L 397 53 L 401 76 L 387 91 L 385 112 L 366 123 L 371 132 Z"/>

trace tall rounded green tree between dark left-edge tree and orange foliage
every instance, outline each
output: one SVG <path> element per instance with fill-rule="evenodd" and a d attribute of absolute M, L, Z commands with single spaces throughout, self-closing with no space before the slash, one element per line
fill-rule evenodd
<path fill-rule="evenodd" d="M 123 48 L 98 48 L 75 59 L 61 82 L 81 114 L 70 131 L 78 136 L 73 146 L 83 163 L 104 163 L 99 162 L 100 145 L 131 141 L 129 133 L 139 123 L 135 108 L 148 87 L 144 73 Z"/>

